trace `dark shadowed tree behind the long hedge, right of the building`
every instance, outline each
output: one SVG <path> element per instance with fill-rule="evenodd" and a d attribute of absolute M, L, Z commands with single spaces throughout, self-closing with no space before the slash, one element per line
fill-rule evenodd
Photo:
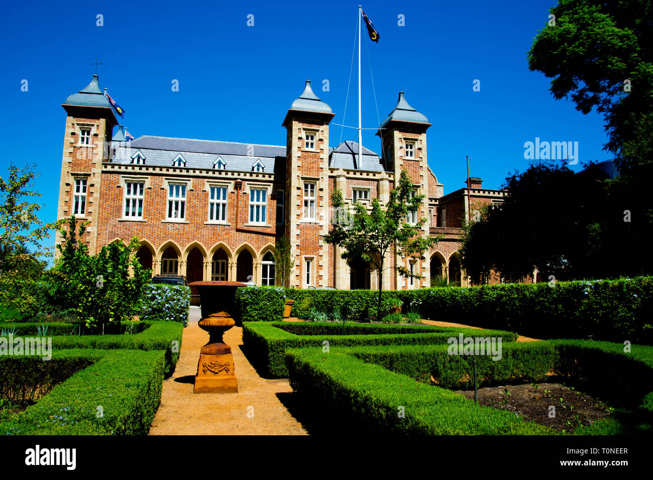
<path fill-rule="evenodd" d="M 464 229 L 460 253 L 473 283 L 486 283 L 492 270 L 509 281 L 535 268 L 558 280 L 622 272 L 619 262 L 607 261 L 609 232 L 626 234 L 621 204 L 609 197 L 611 182 L 598 165 L 574 173 L 564 163 L 535 163 L 504 187 L 505 202 Z"/>

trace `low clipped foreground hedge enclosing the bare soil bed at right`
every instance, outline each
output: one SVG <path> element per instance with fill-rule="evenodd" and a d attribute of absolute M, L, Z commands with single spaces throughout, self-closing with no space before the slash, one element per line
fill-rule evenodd
<path fill-rule="evenodd" d="M 470 372 L 469 361 L 457 355 L 447 359 L 446 348 L 336 347 L 323 353 L 313 347 L 289 349 L 285 360 L 293 389 L 306 396 L 306 404 L 318 415 L 332 411 L 328 421 L 334 428 L 354 424 L 368 434 L 554 434 L 513 413 L 476 406 L 462 394 L 415 381 L 435 372 L 445 379 L 441 385 L 454 385 Z M 578 427 L 575 434 L 653 431 L 653 392 L 639 396 L 652 388 L 653 347 L 632 345 L 625 353 L 624 345 L 609 342 L 551 340 L 503 344 L 502 350 L 497 362 L 477 357 L 479 376 L 494 375 L 496 381 L 536 379 L 552 368 L 571 383 L 616 392 L 614 399 L 622 407 L 607 419 Z M 490 370 L 485 368 L 488 364 Z M 639 406 L 628 408 L 633 400 Z M 404 418 L 398 415 L 400 407 Z"/>

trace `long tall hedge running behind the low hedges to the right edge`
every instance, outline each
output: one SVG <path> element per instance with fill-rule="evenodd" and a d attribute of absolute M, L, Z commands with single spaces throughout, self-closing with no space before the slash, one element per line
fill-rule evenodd
<path fill-rule="evenodd" d="M 247 291 L 247 293 L 246 293 Z M 280 319 L 284 291 L 238 289 L 240 312 L 247 321 Z M 347 317 L 375 313 L 377 292 L 370 290 L 288 289 L 295 299 L 291 315 L 311 308 Z M 519 332 L 534 338 L 577 338 L 653 345 L 653 277 L 619 280 L 512 283 L 468 288 L 383 291 L 400 298 L 404 310 L 420 304 L 423 318 Z"/>

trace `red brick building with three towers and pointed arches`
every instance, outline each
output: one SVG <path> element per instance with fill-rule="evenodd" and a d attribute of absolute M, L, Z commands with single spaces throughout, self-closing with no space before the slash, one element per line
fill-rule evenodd
<path fill-rule="evenodd" d="M 481 187 L 478 178 L 470 179 L 469 190 L 443 194 L 427 163 L 430 123 L 403 92 L 377 132 L 383 155 L 362 148 L 360 159 L 355 142 L 329 146 L 334 114 L 308 81 L 283 120 L 285 146 L 148 135 L 127 142 L 97 75 L 62 106 L 67 118 L 57 217 L 89 221 L 84 240 L 91 253 L 138 236 L 136 255 L 154 274 L 271 285 L 275 241 L 285 234 L 295 255 L 290 285 L 375 288 L 374 266 L 347 264 L 338 248 L 323 242 L 332 219 L 330 193 L 341 189 L 350 206 L 371 208 L 372 199 L 384 204 L 405 168 L 415 191 L 428 198 L 419 212 L 428 218 L 423 233 L 444 238 L 426 261 L 406 265 L 422 280 L 388 269 L 384 287 L 427 287 L 435 275 L 466 285 L 457 250 L 468 196 L 472 210 L 503 201 L 503 191 Z M 387 261 L 392 266 L 402 259 Z"/>

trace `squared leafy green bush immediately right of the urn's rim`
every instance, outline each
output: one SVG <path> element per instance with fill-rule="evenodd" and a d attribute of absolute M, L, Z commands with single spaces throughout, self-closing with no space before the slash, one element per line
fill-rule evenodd
<path fill-rule="evenodd" d="M 234 305 L 238 320 L 277 321 L 283 319 L 285 290 L 281 287 L 238 287 Z"/>

